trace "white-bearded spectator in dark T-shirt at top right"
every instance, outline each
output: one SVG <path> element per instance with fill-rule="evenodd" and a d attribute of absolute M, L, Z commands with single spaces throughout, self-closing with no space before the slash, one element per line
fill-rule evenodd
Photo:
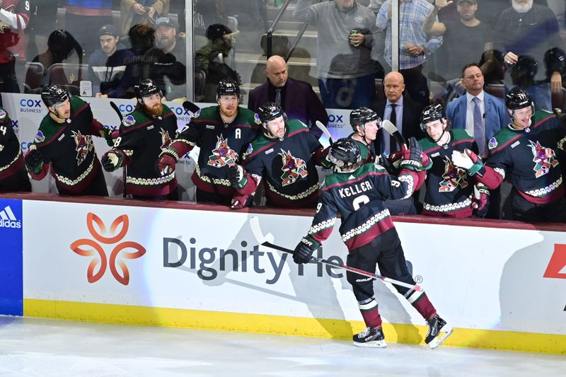
<path fill-rule="evenodd" d="M 505 9 L 495 27 L 496 48 L 505 54 L 507 64 L 516 64 L 519 55 L 530 55 L 542 61 L 545 52 L 555 47 L 564 48 L 560 40 L 558 21 L 548 6 L 533 4 L 533 0 L 512 0 L 512 6 Z M 536 81 L 545 79 L 541 69 Z M 562 87 L 560 72 L 553 72 L 550 88 L 558 92 Z"/>

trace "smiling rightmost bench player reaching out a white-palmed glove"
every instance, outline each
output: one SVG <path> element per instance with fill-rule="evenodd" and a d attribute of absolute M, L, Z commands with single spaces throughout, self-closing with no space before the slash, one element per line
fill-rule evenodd
<path fill-rule="evenodd" d="M 493 189 L 505 177 L 513 185 L 509 194 L 514 220 L 564 222 L 566 205 L 559 154 L 565 149 L 566 129 L 555 115 L 534 111 L 531 96 L 515 88 L 505 95 L 512 123 L 490 139 L 484 163 L 476 153 L 454 151 L 452 161 Z"/>

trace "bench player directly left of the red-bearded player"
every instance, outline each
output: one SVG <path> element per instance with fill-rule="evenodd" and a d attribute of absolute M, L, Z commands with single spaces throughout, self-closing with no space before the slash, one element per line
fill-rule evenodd
<path fill-rule="evenodd" d="M 109 129 L 93 118 L 88 103 L 60 86 L 45 86 L 41 99 L 49 114 L 25 155 L 31 178 L 41 180 L 51 166 L 59 194 L 108 196 L 92 137 L 108 140 Z"/>

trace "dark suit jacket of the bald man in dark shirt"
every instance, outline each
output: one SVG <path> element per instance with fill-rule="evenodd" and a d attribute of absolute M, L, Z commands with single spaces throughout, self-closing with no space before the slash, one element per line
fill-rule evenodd
<path fill-rule="evenodd" d="M 264 83 L 250 91 L 248 109 L 257 112 L 258 108 L 267 102 L 269 102 L 269 83 Z M 300 120 L 311 127 L 312 134 L 320 137 L 322 132 L 315 126 L 315 122 L 320 120 L 322 124 L 328 124 L 328 113 L 310 83 L 289 77 L 285 83 L 284 104 L 283 110 L 289 119 Z"/>

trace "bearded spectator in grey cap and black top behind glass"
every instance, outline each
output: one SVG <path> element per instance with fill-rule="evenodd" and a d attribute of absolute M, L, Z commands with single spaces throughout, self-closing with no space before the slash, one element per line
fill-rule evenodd
<path fill-rule="evenodd" d="M 156 19 L 155 26 L 156 47 L 145 54 L 149 79 L 161 89 L 167 100 L 185 98 L 185 40 L 177 36 L 177 25 L 170 17 Z"/>

